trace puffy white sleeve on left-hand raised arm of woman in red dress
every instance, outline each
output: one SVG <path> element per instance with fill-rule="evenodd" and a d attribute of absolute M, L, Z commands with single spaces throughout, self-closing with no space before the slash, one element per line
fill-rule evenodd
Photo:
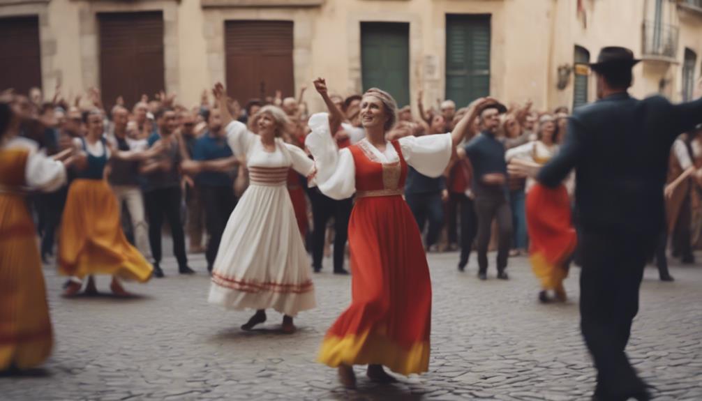
<path fill-rule="evenodd" d="M 339 150 L 329 130 L 329 115 L 317 113 L 310 117 L 312 132 L 305 145 L 314 157 L 317 174 L 310 184 L 333 199 L 350 198 L 356 191 L 356 165 L 349 149 Z"/>

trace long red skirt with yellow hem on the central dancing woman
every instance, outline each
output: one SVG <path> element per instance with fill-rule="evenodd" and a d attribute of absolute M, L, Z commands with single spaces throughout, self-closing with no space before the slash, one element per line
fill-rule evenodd
<path fill-rule="evenodd" d="M 359 198 L 349 223 L 351 306 L 322 342 L 319 362 L 377 364 L 399 374 L 429 366 L 432 290 L 417 224 L 401 196 Z"/>

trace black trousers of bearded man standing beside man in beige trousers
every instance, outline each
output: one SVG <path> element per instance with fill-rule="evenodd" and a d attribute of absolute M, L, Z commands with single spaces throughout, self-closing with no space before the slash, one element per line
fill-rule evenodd
<path fill-rule="evenodd" d="M 178 266 L 187 266 L 185 256 L 185 234 L 183 222 L 180 219 L 180 186 L 154 189 L 144 193 L 146 215 L 149 218 L 149 244 L 155 263 L 161 263 L 161 227 L 164 217 L 168 219 L 173 237 L 173 254 L 176 255 Z"/>

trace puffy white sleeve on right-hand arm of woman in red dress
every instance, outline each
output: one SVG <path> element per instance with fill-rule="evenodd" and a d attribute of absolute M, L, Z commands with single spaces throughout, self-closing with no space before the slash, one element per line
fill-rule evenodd
<path fill-rule="evenodd" d="M 451 159 L 451 133 L 402 137 L 399 139 L 404 161 L 428 177 L 442 175 Z"/>

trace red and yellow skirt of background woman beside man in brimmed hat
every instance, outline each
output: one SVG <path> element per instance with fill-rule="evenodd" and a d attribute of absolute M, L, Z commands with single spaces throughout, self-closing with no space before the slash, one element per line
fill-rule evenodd
<path fill-rule="evenodd" d="M 531 268 L 543 290 L 565 293 L 567 259 L 578 239 L 571 223 L 571 202 L 565 186 L 535 184 L 527 193 L 527 231 Z"/>

